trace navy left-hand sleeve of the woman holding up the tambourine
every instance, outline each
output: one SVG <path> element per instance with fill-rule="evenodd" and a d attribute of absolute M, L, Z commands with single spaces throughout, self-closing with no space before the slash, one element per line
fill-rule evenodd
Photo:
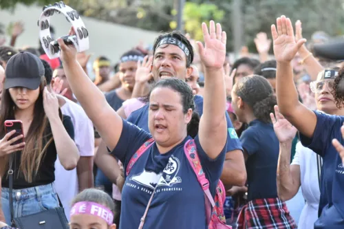
<path fill-rule="evenodd" d="M 123 164 L 126 164 L 125 162 L 130 160 L 140 146 L 151 138 L 151 135 L 126 120 L 122 120 L 122 122 L 122 133 L 115 149 L 111 151 L 111 155 L 117 157 Z"/>

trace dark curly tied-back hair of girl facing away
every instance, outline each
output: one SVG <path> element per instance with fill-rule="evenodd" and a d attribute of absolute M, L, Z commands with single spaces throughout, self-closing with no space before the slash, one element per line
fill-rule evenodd
<path fill-rule="evenodd" d="M 252 109 L 253 115 L 262 122 L 271 122 L 270 113 L 277 105 L 274 91 L 263 76 L 246 76 L 234 86 L 234 92 Z"/>

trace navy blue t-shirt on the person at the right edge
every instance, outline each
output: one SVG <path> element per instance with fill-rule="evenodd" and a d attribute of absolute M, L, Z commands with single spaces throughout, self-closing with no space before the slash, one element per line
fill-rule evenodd
<path fill-rule="evenodd" d="M 336 138 L 344 144 L 341 135 L 343 116 L 330 116 L 320 111 L 316 114 L 316 127 L 312 139 L 300 134 L 301 143 L 323 157 L 321 170 L 321 195 L 319 219 L 315 229 L 344 228 L 344 166 L 332 145 Z M 314 165 L 315 166 L 315 165 Z"/>

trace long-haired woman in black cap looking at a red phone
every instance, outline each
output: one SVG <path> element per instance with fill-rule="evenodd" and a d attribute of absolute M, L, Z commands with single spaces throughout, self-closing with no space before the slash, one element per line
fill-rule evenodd
<path fill-rule="evenodd" d="M 79 155 L 72 121 L 69 116 L 62 118 L 56 95 L 47 91 L 39 57 L 19 52 L 8 61 L 5 74 L 0 107 L 0 175 L 2 210 L 10 224 L 9 155 L 14 157 L 13 217 L 58 207 L 52 187 L 56 155 L 67 170 L 76 167 Z M 20 120 L 23 135 L 11 140 L 14 133 L 5 133 L 6 120 Z M 21 139 L 23 142 L 11 145 Z"/>

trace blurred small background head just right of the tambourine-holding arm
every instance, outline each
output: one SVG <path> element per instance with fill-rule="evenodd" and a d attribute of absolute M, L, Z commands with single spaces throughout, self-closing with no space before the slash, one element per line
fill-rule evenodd
<path fill-rule="evenodd" d="M 105 83 L 110 78 L 110 61 L 105 56 L 99 56 L 93 64 L 94 74 L 94 84 L 99 86 Z"/>

